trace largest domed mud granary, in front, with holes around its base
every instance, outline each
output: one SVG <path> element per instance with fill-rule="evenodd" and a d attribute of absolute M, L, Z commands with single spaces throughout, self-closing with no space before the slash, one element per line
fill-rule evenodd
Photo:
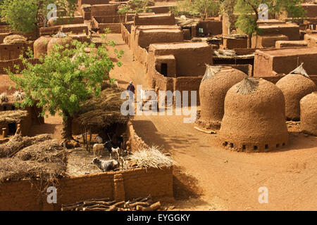
<path fill-rule="evenodd" d="M 244 78 L 225 96 L 225 114 L 219 131 L 223 146 L 248 152 L 266 152 L 287 145 L 285 98 L 265 79 Z"/>

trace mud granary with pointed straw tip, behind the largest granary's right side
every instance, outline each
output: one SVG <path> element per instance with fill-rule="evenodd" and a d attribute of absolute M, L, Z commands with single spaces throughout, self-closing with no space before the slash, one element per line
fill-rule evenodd
<path fill-rule="evenodd" d="M 311 92 L 316 91 L 316 84 L 304 75 L 290 74 L 282 77 L 277 83 L 285 96 L 285 108 L 287 120 L 299 120 L 299 101 Z"/>

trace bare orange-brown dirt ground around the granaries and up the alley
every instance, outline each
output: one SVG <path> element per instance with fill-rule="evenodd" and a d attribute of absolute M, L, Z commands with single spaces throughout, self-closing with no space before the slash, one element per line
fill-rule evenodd
<path fill-rule="evenodd" d="M 147 82 L 144 68 L 132 61 L 120 34 L 109 34 L 125 51 L 124 66 L 111 72 L 122 87 L 132 79 Z M 316 210 L 317 137 L 289 127 L 290 144 L 270 153 L 237 153 L 217 146 L 217 134 L 204 134 L 182 116 L 137 115 L 132 123 L 149 145 L 163 146 L 177 166 L 176 208 L 180 210 Z M 60 136 L 61 118 L 49 117 L 31 133 Z M 268 188 L 268 203 L 259 203 L 259 188 Z"/>

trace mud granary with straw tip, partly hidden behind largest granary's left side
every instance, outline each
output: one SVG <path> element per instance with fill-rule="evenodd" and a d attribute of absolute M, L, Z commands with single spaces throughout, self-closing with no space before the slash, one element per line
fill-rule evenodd
<path fill-rule="evenodd" d="M 223 119 L 225 94 L 230 87 L 247 75 L 228 66 L 206 67 L 206 73 L 199 86 L 201 117 L 198 123 L 207 129 L 219 129 Z"/>

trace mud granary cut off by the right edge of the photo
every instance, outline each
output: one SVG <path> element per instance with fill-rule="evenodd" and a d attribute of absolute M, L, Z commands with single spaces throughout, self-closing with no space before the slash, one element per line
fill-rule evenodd
<path fill-rule="evenodd" d="M 317 91 L 308 94 L 300 101 L 301 125 L 304 133 L 317 136 Z"/>

